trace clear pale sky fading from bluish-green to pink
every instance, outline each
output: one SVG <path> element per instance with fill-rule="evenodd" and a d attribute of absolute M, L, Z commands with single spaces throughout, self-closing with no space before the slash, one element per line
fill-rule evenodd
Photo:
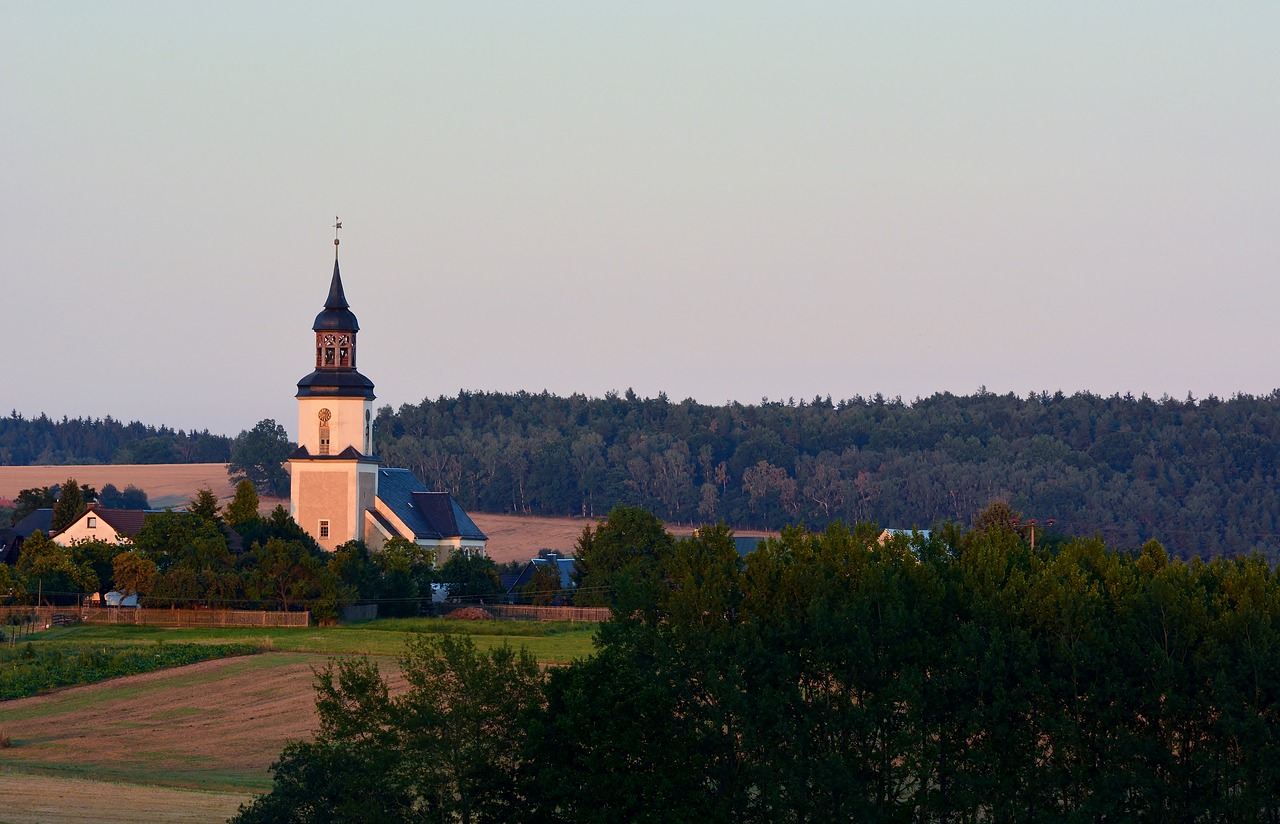
<path fill-rule="evenodd" d="M 4 412 L 1280 386 L 1280 4 L 0 0 Z"/>

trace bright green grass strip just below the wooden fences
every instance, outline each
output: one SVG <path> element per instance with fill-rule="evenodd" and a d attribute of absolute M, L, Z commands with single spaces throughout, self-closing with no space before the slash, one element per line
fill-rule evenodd
<path fill-rule="evenodd" d="M 338 627 L 251 627 L 166 630 L 161 627 L 76 626 L 32 636 L 37 644 L 101 644 L 104 646 L 165 641 L 183 644 L 252 644 L 265 650 L 319 655 L 399 655 L 404 636 L 413 632 L 460 632 L 476 646 L 502 644 L 527 647 L 544 664 L 566 664 L 594 649 L 596 624 L 550 621 L 449 621 L 447 618 L 387 618 Z"/>

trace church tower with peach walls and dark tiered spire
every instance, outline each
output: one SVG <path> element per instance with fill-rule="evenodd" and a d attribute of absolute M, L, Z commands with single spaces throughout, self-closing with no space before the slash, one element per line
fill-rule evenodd
<path fill-rule="evenodd" d="M 316 366 L 298 381 L 298 449 L 289 456 L 289 512 L 328 550 L 364 540 L 365 512 L 378 496 L 374 381 L 356 371 L 360 324 L 342 288 L 338 241 L 333 243 L 329 297 L 311 326 Z"/>

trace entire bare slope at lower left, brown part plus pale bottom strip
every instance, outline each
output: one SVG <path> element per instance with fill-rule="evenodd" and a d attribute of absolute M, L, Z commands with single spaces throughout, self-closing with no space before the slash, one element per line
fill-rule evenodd
<path fill-rule="evenodd" d="M 6 701 L 0 821 L 225 820 L 311 736 L 324 662 L 268 653 Z"/>

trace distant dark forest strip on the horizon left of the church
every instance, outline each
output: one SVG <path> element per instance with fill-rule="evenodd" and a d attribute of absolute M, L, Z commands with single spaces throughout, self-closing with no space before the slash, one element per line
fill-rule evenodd
<path fill-rule="evenodd" d="M 225 463 L 230 439 L 209 430 L 124 424 L 105 418 L 45 415 L 27 418 L 17 411 L 0 417 L 0 464 L 73 463 Z"/>

